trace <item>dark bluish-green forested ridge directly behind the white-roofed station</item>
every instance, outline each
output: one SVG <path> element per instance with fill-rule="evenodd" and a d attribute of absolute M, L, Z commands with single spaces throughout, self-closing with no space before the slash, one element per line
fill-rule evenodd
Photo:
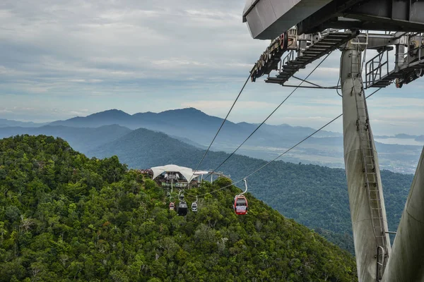
<path fill-rule="evenodd" d="M 117 155 L 133 168 L 163 164 L 196 167 L 204 151 L 163 133 L 140 128 L 93 150 L 93 155 Z M 228 154 L 208 152 L 202 169 L 216 168 Z M 235 154 L 218 171 L 240 180 L 266 161 Z M 396 231 L 404 211 L 412 175 L 382 171 L 390 231 Z M 346 174 L 341 168 L 275 161 L 249 177 L 249 191 L 284 216 L 314 228 L 331 242 L 354 253 Z"/>

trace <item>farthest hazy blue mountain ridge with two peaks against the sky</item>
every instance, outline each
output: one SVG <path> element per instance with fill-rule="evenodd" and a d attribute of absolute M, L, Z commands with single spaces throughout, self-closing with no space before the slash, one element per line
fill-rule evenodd
<path fill-rule="evenodd" d="M 73 127 L 98 127 L 110 123 L 119 124 L 131 129 L 147 128 L 161 131 L 167 135 L 187 137 L 200 145 L 208 145 L 223 122 L 222 118 L 209 116 L 194 108 L 163 111 L 158 114 L 147 112 L 129 115 L 119 110 L 102 111 L 85 118 L 70 118 L 66 121 L 54 121 L 52 125 L 66 125 Z M 292 127 L 290 125 L 263 125 L 257 134 L 248 141 L 250 145 L 278 146 L 293 138 L 305 137 L 314 132 L 312 128 Z M 213 128 L 213 129 L 212 129 Z M 241 143 L 252 131 L 257 128 L 254 123 L 232 123 L 225 121 L 220 135 L 216 139 L 216 146 Z M 322 131 L 322 136 L 332 135 Z M 318 136 L 319 136 L 318 134 Z M 263 136 L 266 135 L 266 138 Z"/>

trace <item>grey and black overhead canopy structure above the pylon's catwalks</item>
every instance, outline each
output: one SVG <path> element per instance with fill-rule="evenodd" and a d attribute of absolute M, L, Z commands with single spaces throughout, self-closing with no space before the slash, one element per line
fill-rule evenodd
<path fill-rule="evenodd" d="M 326 28 L 424 31 L 420 0 L 247 0 L 243 22 L 254 39 L 275 39 L 296 25 L 298 35 Z"/>

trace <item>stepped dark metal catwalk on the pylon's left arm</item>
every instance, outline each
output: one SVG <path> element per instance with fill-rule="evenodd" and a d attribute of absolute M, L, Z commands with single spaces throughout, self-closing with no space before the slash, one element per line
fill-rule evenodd
<path fill-rule="evenodd" d="M 265 82 L 283 85 L 301 68 L 305 68 L 307 64 L 321 58 L 325 54 L 329 54 L 329 52 L 337 49 L 357 35 L 358 32 L 351 30 L 346 32 L 326 30 L 326 32 L 313 36 L 314 38 L 310 39 L 309 47 L 300 52 L 297 57 L 295 57 L 295 51 L 290 51 L 281 61 L 279 74 L 275 78 L 267 78 Z"/>

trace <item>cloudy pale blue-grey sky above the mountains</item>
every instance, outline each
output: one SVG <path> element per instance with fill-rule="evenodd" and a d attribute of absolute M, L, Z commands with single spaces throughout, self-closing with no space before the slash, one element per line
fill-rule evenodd
<path fill-rule="evenodd" d="M 0 118 L 46 122 L 107 109 L 135 114 L 190 106 L 225 117 L 269 44 L 250 36 L 244 6 L 244 0 L 2 0 Z M 334 51 L 310 80 L 336 85 L 340 54 Z M 372 96 L 374 133 L 423 135 L 423 89 L 424 80 L 416 80 Z M 249 82 L 229 120 L 260 123 L 292 90 Z M 334 90 L 299 89 L 268 123 L 319 128 L 338 114 Z M 341 121 L 326 129 L 341 132 Z"/>

